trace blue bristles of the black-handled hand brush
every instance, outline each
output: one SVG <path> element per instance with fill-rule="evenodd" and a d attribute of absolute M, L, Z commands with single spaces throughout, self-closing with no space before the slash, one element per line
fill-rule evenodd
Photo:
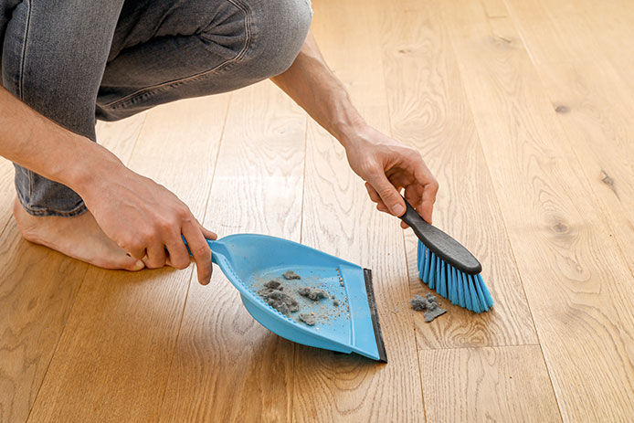
<path fill-rule="evenodd" d="M 417 250 L 418 276 L 440 296 L 471 312 L 488 312 L 493 306 L 491 293 L 481 275 L 467 275 L 431 252 L 422 242 Z"/>

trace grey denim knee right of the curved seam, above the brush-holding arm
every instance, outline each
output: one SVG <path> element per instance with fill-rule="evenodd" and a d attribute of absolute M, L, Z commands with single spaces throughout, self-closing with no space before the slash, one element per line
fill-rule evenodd
<path fill-rule="evenodd" d="M 310 0 L 269 0 L 251 16 L 251 60 L 259 78 L 291 67 L 311 26 Z"/>

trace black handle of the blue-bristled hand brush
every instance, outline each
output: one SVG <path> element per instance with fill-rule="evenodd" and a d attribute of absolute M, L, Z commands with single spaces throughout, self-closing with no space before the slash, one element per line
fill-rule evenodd
<path fill-rule="evenodd" d="M 405 200 L 405 198 L 403 198 Z M 420 217 L 414 207 L 405 200 L 407 207 L 401 219 L 414 230 L 414 233 L 440 259 L 469 275 L 477 275 L 482 271 L 480 261 L 473 257 L 469 249 L 465 249 L 460 242 L 449 237 L 438 227 L 432 227 Z"/>

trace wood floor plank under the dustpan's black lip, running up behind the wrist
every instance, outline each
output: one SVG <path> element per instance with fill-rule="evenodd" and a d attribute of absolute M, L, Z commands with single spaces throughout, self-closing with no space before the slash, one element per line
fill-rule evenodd
<path fill-rule="evenodd" d="M 368 122 L 389 134 L 378 3 L 315 2 L 313 8 L 324 57 Z M 375 210 L 343 148 L 314 122 L 307 142 L 302 242 L 373 270 L 388 364 L 298 347 L 293 419 L 423 421 L 399 221 Z"/>

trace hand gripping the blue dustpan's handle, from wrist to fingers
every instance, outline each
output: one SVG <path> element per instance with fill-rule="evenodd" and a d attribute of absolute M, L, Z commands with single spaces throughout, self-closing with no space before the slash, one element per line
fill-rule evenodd
<path fill-rule="evenodd" d="M 132 172 L 118 160 L 96 167 L 90 183 L 77 191 L 101 230 L 151 269 L 189 266 L 182 235 L 195 259 L 198 281 L 209 283 L 212 264 L 206 238 L 216 239 L 217 235 L 203 227 L 189 207 L 163 185 Z"/>

